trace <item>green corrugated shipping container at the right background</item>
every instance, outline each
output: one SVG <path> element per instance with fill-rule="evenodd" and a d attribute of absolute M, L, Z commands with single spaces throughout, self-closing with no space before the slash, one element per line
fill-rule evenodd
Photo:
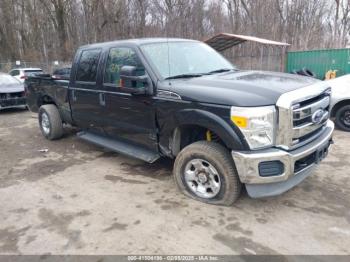
<path fill-rule="evenodd" d="M 350 74 L 350 48 L 288 52 L 286 71 L 310 69 L 323 80 L 329 70 L 337 70 L 337 77 Z"/>

